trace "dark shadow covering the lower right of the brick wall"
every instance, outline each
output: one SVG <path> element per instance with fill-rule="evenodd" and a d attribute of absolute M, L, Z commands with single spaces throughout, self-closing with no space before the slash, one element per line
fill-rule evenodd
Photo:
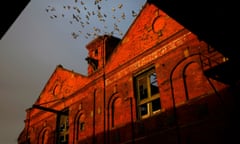
<path fill-rule="evenodd" d="M 112 127 L 106 133 L 87 137 L 78 143 L 89 144 L 103 142 L 107 144 L 227 144 L 236 143 L 236 130 L 239 128 L 236 118 L 236 93 L 225 89 L 224 102 L 218 96 L 198 97 L 173 110 L 164 111 L 144 120 L 138 120 L 120 127 Z M 228 93 L 228 94 L 227 94 Z"/>

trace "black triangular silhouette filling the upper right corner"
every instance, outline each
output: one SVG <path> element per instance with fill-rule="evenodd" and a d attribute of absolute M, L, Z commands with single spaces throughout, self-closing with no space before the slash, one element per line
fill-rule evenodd
<path fill-rule="evenodd" d="M 195 33 L 219 52 L 235 62 L 239 62 L 235 35 L 239 31 L 237 2 L 208 0 L 148 0 L 165 11 L 169 16 Z M 231 17 L 231 18 L 230 18 Z"/>

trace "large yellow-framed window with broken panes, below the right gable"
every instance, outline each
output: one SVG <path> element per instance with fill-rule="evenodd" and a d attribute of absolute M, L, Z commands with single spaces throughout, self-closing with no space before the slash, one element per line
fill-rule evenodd
<path fill-rule="evenodd" d="M 154 68 L 135 77 L 137 109 L 140 119 L 158 113 L 161 109 L 157 75 Z"/>

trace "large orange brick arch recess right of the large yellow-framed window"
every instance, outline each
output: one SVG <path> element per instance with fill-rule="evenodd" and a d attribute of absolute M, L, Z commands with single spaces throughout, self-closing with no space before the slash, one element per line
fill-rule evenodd
<path fill-rule="evenodd" d="M 200 55 L 193 54 L 179 61 L 170 75 L 174 105 L 179 105 L 197 96 L 205 95 L 214 88 L 203 73 Z"/>

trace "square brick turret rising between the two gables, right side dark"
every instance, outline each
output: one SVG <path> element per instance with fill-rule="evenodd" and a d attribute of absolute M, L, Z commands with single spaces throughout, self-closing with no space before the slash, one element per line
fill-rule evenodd
<path fill-rule="evenodd" d="M 91 41 L 87 46 L 88 75 L 104 67 L 113 50 L 117 47 L 121 39 L 103 35 Z"/>

